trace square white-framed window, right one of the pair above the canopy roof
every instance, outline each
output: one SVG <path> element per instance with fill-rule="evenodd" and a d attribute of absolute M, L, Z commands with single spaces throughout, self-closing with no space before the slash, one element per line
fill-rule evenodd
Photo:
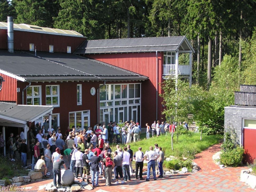
<path fill-rule="evenodd" d="M 59 107 L 59 85 L 46 85 L 46 105 Z"/>

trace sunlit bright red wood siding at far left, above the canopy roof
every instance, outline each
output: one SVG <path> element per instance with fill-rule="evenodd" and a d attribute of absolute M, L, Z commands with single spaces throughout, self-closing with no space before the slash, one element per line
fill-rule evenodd
<path fill-rule="evenodd" d="M 0 91 L 0 101 L 17 102 L 17 80 L 2 73 L 0 75 L 5 80 Z"/>

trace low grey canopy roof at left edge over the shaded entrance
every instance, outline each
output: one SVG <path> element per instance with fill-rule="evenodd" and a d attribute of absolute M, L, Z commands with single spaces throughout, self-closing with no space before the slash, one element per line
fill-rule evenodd
<path fill-rule="evenodd" d="M 17 105 L 0 102 L 0 123 L 26 123 L 50 113 L 53 106 Z"/>

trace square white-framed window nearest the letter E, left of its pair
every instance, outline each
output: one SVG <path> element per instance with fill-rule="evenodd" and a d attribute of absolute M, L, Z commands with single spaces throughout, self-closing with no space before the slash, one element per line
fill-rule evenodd
<path fill-rule="evenodd" d="M 41 105 L 41 86 L 30 86 L 27 88 L 27 105 Z"/>

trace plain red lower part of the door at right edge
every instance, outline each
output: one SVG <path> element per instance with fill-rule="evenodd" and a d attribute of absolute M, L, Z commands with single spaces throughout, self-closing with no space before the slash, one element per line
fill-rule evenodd
<path fill-rule="evenodd" d="M 244 159 L 243 164 L 252 164 L 256 159 L 256 129 L 244 128 L 243 129 L 243 147 Z"/>

